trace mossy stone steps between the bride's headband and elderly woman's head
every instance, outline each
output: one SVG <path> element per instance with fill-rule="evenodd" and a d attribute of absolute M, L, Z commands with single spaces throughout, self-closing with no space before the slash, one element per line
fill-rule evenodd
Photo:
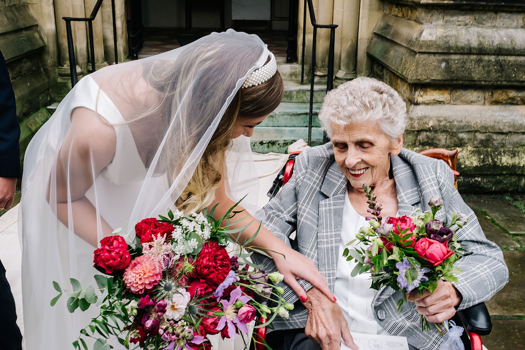
<path fill-rule="evenodd" d="M 254 129 L 254 135 L 251 137 L 251 149 L 254 152 L 287 153 L 291 143 L 298 139 L 308 139 L 310 83 L 306 78 L 310 74 L 309 67 L 304 67 L 305 81 L 304 85 L 301 85 L 301 66 L 286 63 L 286 57 L 276 59 L 285 92 L 279 107 Z M 325 95 L 325 83 L 314 85 L 311 146 L 322 143 L 323 132 L 317 116 Z"/>

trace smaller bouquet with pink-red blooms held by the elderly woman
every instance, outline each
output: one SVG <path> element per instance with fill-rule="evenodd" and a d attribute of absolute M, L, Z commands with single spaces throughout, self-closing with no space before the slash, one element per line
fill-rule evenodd
<path fill-rule="evenodd" d="M 371 188 L 363 185 L 368 198 L 368 212 L 366 217 L 370 227 L 363 226 L 356 238 L 346 244 L 343 256 L 347 261 L 354 260 L 356 265 L 351 276 L 372 271 L 372 286 L 380 290 L 383 286 L 391 287 L 396 291 L 403 291 L 403 298 L 397 302 L 397 312 L 402 311 L 406 302 L 406 293 L 417 290 L 423 294 L 424 290 L 434 292 L 438 280 L 457 282 L 455 275 L 461 269 L 454 266 L 454 262 L 466 253 L 461 249 L 454 232 L 463 228 L 468 217 L 463 213 L 452 214 L 450 224 L 436 220 L 436 212 L 442 208 L 443 199 L 432 197 L 428 204 L 430 210 L 424 213 L 415 212 L 408 217 L 389 217 L 386 221 L 381 218 L 382 205 L 376 202 Z M 348 246 L 356 240 L 362 242 L 365 248 L 351 248 Z M 429 331 L 429 322 L 422 315 L 421 325 L 424 331 Z M 448 330 L 448 325 L 436 324 L 440 335 Z"/>

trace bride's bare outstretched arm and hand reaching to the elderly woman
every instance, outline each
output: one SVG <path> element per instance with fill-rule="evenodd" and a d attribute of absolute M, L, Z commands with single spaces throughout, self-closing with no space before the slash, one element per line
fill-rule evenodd
<path fill-rule="evenodd" d="M 228 198 L 224 186 L 224 180 L 222 180 L 215 190 L 215 200 L 211 207 L 217 204 L 217 208 L 214 212 L 214 217 L 222 218 L 223 215 L 233 207 L 234 201 Z M 239 208 L 239 207 L 237 207 Z M 240 208 L 239 210 L 241 210 Z M 328 283 L 324 277 L 317 270 L 316 265 L 306 256 L 301 253 L 289 248 L 283 241 L 278 239 L 274 234 L 268 231 L 266 228 L 259 225 L 259 222 L 254 219 L 246 211 L 237 215 L 244 215 L 245 219 L 237 223 L 234 227 L 239 228 L 251 222 L 248 228 L 246 228 L 239 236 L 239 242 L 245 242 L 250 239 L 256 232 L 257 236 L 253 241 L 250 242 L 251 246 L 260 247 L 274 259 L 277 270 L 282 273 L 284 281 L 293 289 L 293 291 L 301 298 L 306 300 L 306 292 L 297 282 L 298 279 L 307 280 L 313 286 L 321 290 L 330 300 L 335 300 L 332 292 L 328 288 Z M 239 219 L 242 216 L 239 216 Z M 260 229 L 259 229 L 260 227 Z"/>

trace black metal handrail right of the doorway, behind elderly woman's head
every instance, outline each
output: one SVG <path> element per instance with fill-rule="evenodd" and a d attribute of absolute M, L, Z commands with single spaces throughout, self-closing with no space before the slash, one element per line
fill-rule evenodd
<path fill-rule="evenodd" d="M 306 42 L 306 6 L 308 3 L 308 12 L 310 13 L 310 22 L 313 26 L 312 38 L 312 69 L 310 76 L 310 112 L 308 118 L 308 145 L 312 141 L 312 115 L 313 115 L 313 80 L 315 78 L 316 70 L 316 40 L 317 28 L 330 28 L 330 49 L 328 51 L 328 78 L 327 78 L 327 92 L 333 89 L 333 59 L 335 49 L 335 28 L 337 24 L 317 24 L 316 14 L 313 11 L 312 0 L 304 0 L 304 12 L 302 20 L 302 54 L 301 54 L 301 85 L 304 84 L 304 45 Z"/>

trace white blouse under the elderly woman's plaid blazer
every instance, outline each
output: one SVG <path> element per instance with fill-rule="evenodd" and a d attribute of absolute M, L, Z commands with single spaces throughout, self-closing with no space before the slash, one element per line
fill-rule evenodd
<path fill-rule="evenodd" d="M 343 208 L 343 222 L 341 229 L 341 241 L 339 242 L 339 258 L 337 264 L 337 274 L 335 275 L 334 295 L 337 303 L 341 307 L 348 327 L 351 332 L 361 332 L 367 334 L 387 334 L 383 328 L 375 321 L 372 310 L 372 300 L 375 290 L 370 288 L 372 284 L 370 273 L 363 273 L 351 277 L 355 262 L 346 261 L 343 258 L 343 250 L 346 243 L 355 238 L 359 229 L 368 225 L 364 217 L 360 216 L 352 207 L 348 195 L 345 196 Z M 355 241 L 348 248 L 356 247 L 361 242 Z"/>

